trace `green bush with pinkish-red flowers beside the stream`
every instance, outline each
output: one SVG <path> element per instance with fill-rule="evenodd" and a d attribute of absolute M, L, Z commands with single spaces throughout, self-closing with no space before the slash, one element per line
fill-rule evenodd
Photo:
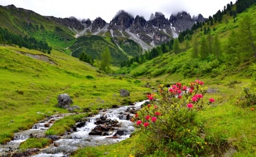
<path fill-rule="evenodd" d="M 196 80 L 188 85 L 159 85 L 159 96 L 148 94 L 150 104 L 144 106 L 134 117 L 137 131 L 145 141 L 154 143 L 146 146 L 147 153 L 165 150 L 170 154 L 201 154 L 207 143 L 200 137 L 203 131 L 197 124 L 195 114 L 204 108 L 204 82 Z M 208 104 L 214 102 L 210 98 Z"/>

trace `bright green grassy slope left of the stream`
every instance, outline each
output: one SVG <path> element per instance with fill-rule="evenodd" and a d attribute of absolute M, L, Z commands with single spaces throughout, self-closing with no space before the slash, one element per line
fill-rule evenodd
<path fill-rule="evenodd" d="M 29 129 L 44 115 L 67 112 L 56 107 L 58 94 L 68 93 L 74 105 L 96 110 L 142 100 L 142 92 L 148 90 L 134 79 L 105 76 L 58 51 L 47 55 L 56 65 L 17 51 L 43 55 L 25 48 L 0 46 L 0 143 L 9 141 L 15 131 Z M 131 96 L 120 97 L 120 89 L 129 90 Z"/>

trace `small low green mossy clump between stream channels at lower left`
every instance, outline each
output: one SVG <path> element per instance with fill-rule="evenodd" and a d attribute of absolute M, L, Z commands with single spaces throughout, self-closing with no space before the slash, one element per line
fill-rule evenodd
<path fill-rule="evenodd" d="M 20 144 L 19 148 L 22 150 L 26 150 L 27 148 L 44 148 L 51 143 L 51 139 L 48 138 L 28 138 Z"/>

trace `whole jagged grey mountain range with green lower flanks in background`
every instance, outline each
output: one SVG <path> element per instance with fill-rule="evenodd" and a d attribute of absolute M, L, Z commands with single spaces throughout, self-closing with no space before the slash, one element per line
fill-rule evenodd
<path fill-rule="evenodd" d="M 204 20 L 201 15 L 191 18 L 184 11 L 171 15 L 169 20 L 160 12 L 145 20 L 121 10 L 107 23 L 101 18 L 78 20 L 42 16 L 14 5 L 0 6 L 0 16 L 1 28 L 46 42 L 49 47 L 75 57 L 85 52 L 93 59 L 100 59 L 100 54 L 108 47 L 114 65 L 177 38 L 179 32 Z"/>

